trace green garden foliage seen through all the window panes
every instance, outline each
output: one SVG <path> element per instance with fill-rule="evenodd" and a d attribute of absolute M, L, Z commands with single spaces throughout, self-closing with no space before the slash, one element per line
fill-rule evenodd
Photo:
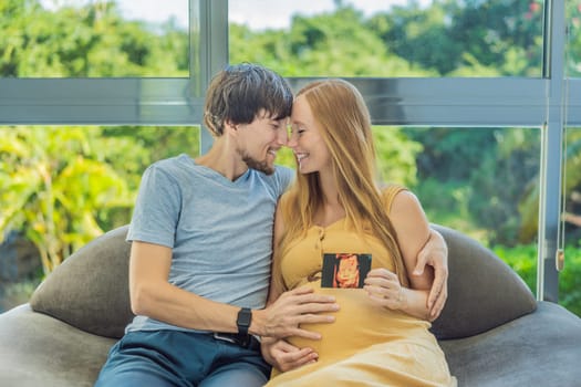
<path fill-rule="evenodd" d="M 230 62 L 258 62 L 286 76 L 540 76 L 542 3 L 438 0 L 365 17 L 335 1 L 334 11 L 295 14 L 284 30 L 231 24 Z M 578 76 L 580 12 L 571 3 L 567 72 Z M 126 21 L 114 1 L 49 11 L 38 0 L 3 0 L 0 13 L 0 76 L 188 75 L 188 33 L 172 21 Z M 374 136 L 385 181 L 412 188 L 430 221 L 492 247 L 535 289 L 538 128 L 375 127 Z M 567 138 L 570 195 L 581 191 L 581 130 Z M 198 140 L 198 127 L 0 128 L 0 238 L 23 233 L 48 273 L 128 222 L 147 165 L 196 156 Z M 277 161 L 294 166 L 289 150 Z M 561 297 L 581 315 L 581 236 L 571 230 Z"/>

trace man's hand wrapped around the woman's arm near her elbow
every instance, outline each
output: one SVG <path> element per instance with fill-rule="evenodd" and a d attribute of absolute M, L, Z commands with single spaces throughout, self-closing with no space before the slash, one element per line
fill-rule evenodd
<path fill-rule="evenodd" d="M 427 243 L 417 254 L 414 275 L 421 275 L 426 264 L 434 268 L 434 283 L 427 297 L 429 321 L 434 321 L 442 313 L 448 297 L 448 247 L 444 237 L 434 229 L 430 229 Z"/>

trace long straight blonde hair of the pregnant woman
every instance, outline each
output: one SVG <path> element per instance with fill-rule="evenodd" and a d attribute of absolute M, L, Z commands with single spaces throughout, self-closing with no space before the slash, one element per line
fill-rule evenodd
<path fill-rule="evenodd" d="M 329 148 L 347 224 L 361 234 L 371 228 L 394 258 L 401 283 L 408 285 L 395 230 L 376 185 L 375 147 L 363 96 L 351 83 L 339 79 L 314 81 L 300 90 L 297 97 L 301 95 L 311 107 Z M 286 232 L 277 249 L 280 253 L 290 241 L 304 237 L 323 205 L 319 172 L 297 175 L 295 184 L 281 201 Z"/>

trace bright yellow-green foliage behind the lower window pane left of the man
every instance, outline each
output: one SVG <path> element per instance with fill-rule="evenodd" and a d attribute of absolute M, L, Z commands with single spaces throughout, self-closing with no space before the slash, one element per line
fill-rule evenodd
<path fill-rule="evenodd" d="M 193 128 L 0 128 L 0 230 L 22 231 L 48 274 L 103 230 L 126 223 L 145 166 L 173 156 L 178 144 L 194 144 L 197 154 L 198 137 Z M 163 150 L 148 149 L 163 140 Z"/>

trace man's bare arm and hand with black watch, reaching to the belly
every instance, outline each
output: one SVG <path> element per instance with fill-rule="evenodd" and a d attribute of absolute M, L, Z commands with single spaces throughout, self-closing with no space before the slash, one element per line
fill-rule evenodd
<path fill-rule="evenodd" d="M 131 306 L 135 314 L 186 328 L 237 333 L 240 307 L 214 302 L 168 282 L 172 249 L 146 242 L 132 243 L 129 259 Z M 301 287 L 286 293 L 264 310 L 253 310 L 249 333 L 259 336 L 319 335 L 300 324 L 324 323 L 331 316 L 318 313 L 336 311 L 334 299 Z"/>

